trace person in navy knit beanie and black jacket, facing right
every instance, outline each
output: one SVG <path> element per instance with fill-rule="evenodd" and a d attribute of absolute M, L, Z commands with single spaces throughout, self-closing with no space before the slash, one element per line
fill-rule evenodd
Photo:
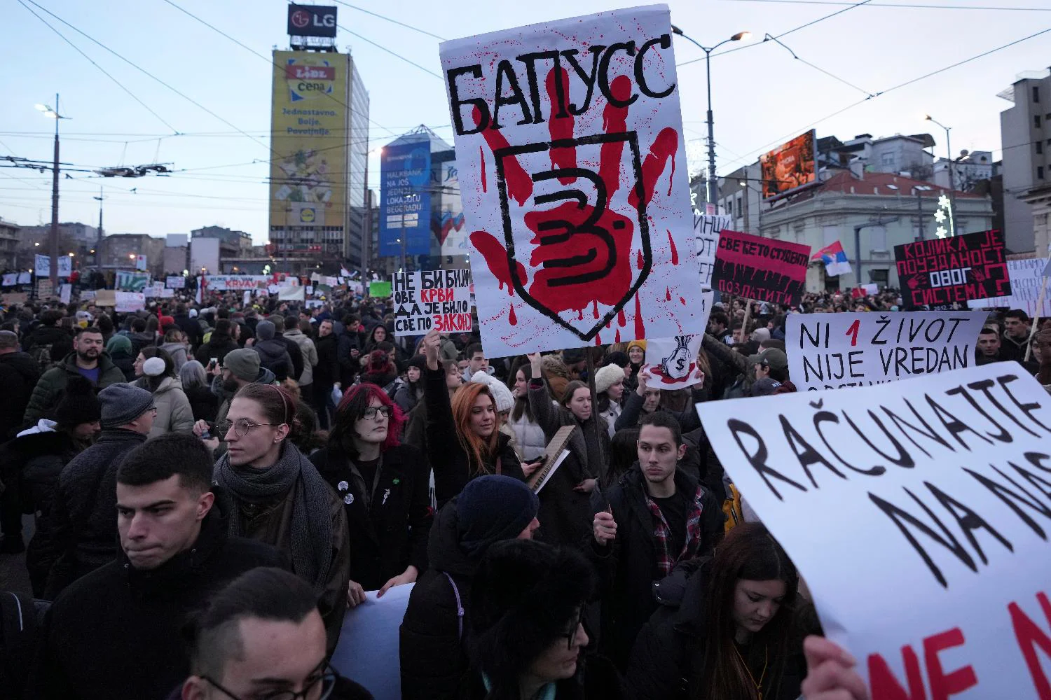
<path fill-rule="evenodd" d="M 540 502 L 523 482 L 479 476 L 434 517 L 430 568 L 409 594 L 401 622 L 403 700 L 455 698 L 468 669 L 463 640 L 471 585 L 493 543 L 532 539 Z"/>

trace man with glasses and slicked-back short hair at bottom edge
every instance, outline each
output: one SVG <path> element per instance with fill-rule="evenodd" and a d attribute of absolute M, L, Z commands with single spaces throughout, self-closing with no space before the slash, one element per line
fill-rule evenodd
<path fill-rule="evenodd" d="M 325 623 L 310 585 L 280 569 L 234 579 L 198 618 L 190 676 L 168 700 L 329 698 L 372 694 L 326 662 Z M 161 696 L 154 696 L 161 697 Z"/>

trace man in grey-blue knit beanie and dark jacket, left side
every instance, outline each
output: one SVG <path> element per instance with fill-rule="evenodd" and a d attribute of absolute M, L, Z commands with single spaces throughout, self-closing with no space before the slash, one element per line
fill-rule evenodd
<path fill-rule="evenodd" d="M 102 432 L 59 475 L 51 505 L 51 543 L 57 553 L 44 598 L 95 571 L 117 554 L 114 518 L 117 468 L 124 457 L 146 442 L 157 408 L 153 396 L 130 384 L 114 384 L 99 393 Z"/>

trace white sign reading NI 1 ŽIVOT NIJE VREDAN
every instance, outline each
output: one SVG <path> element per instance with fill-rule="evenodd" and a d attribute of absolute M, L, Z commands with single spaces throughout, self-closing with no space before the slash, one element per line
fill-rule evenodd
<path fill-rule="evenodd" d="M 974 364 L 983 312 L 791 314 L 785 352 L 792 384 L 836 389 Z"/>

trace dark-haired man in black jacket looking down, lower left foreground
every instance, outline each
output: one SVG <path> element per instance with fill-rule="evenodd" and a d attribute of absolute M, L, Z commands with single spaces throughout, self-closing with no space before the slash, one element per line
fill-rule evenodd
<path fill-rule="evenodd" d="M 51 606 L 30 697 L 165 697 L 189 673 L 188 614 L 240 574 L 284 564 L 268 545 L 227 534 L 230 506 L 211 469 L 201 441 L 184 433 L 127 454 L 112 515 L 120 557 Z"/>

